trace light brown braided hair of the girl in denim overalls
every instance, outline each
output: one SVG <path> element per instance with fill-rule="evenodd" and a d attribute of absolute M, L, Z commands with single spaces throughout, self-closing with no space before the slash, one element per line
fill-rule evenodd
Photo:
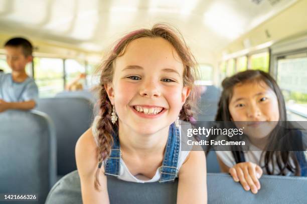
<path fill-rule="evenodd" d="M 196 110 L 196 97 L 199 96 L 198 89 L 194 87 L 194 81 L 198 75 L 196 69 L 196 59 L 188 48 L 186 42 L 184 41 L 179 30 L 172 28 L 172 26 L 167 24 L 155 24 L 151 29 L 138 29 L 126 34 L 121 38 L 117 44 L 114 46 L 112 51 L 109 53 L 106 60 L 103 61 L 102 65 L 99 67 L 101 70 L 100 84 L 99 84 L 99 105 L 100 105 L 100 116 L 97 123 L 98 130 L 98 168 L 95 176 L 95 188 L 99 189 L 99 172 L 102 161 L 105 160 L 111 152 L 111 147 L 113 144 L 112 131 L 113 127 L 118 127 L 118 121 L 113 124 L 111 123 L 111 112 L 112 104 L 107 96 L 104 85 L 112 82 L 114 73 L 114 61 L 117 57 L 125 53 L 127 45 L 134 39 L 141 37 L 162 37 L 169 41 L 178 52 L 183 64 L 184 64 L 184 74 L 183 74 L 183 84 L 184 86 L 189 86 L 191 88 L 191 93 L 186 99 L 180 111 L 180 119 L 185 121 L 193 120 L 192 116 Z"/>

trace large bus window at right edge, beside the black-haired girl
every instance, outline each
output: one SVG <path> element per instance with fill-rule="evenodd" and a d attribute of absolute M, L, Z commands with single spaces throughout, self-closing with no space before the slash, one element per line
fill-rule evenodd
<path fill-rule="evenodd" d="M 304 55 L 277 58 L 277 83 L 287 109 L 307 118 L 307 53 Z"/>

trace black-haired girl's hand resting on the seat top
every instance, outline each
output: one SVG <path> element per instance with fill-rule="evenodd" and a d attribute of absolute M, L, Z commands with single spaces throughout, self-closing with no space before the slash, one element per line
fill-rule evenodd
<path fill-rule="evenodd" d="M 240 162 L 229 168 L 229 173 L 234 181 L 240 181 L 245 190 L 257 193 L 260 189 L 259 178 L 263 172 L 259 165 L 252 162 Z"/>

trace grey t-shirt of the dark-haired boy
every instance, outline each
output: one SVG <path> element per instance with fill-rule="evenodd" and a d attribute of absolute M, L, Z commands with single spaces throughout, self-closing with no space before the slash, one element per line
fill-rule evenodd
<path fill-rule="evenodd" d="M 28 77 L 23 82 L 15 82 L 12 73 L 0 75 L 0 99 L 7 102 L 22 102 L 38 99 L 38 87 L 33 78 Z"/>

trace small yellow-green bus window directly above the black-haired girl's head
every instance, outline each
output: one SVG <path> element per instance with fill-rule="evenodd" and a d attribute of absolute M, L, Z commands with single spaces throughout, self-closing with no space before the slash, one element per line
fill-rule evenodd
<path fill-rule="evenodd" d="M 269 53 L 262 52 L 250 56 L 250 69 L 269 71 Z"/>

